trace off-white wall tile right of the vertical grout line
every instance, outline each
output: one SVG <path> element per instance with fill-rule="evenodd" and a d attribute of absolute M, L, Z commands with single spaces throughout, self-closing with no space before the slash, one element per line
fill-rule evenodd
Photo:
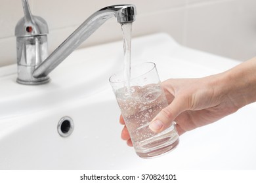
<path fill-rule="evenodd" d="M 183 44 L 240 60 L 256 56 L 256 1 L 188 7 Z"/>

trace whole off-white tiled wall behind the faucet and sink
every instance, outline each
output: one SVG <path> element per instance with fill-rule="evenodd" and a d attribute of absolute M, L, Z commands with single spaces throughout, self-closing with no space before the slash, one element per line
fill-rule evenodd
<path fill-rule="evenodd" d="M 0 0 L 0 66 L 16 63 L 14 27 L 23 16 L 21 1 Z M 137 6 L 133 37 L 167 32 L 179 43 L 245 60 L 256 55 L 255 0 L 29 0 L 33 14 L 49 24 L 49 50 L 58 46 L 96 10 L 108 5 Z M 112 19 L 82 46 L 121 40 L 121 28 Z"/>

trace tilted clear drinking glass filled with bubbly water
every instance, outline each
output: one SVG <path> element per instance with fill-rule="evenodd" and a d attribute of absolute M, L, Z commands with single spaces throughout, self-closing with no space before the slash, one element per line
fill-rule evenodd
<path fill-rule="evenodd" d="M 160 86 L 156 65 L 151 62 L 131 67 L 130 88 L 125 85 L 123 71 L 110 77 L 110 84 L 140 158 L 152 158 L 170 152 L 179 144 L 179 135 L 173 123 L 161 133 L 148 127 L 152 119 L 167 107 L 165 93 Z"/>

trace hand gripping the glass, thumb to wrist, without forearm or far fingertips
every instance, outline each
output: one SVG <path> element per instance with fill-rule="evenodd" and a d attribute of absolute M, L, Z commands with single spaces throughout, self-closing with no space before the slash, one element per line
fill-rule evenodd
<path fill-rule="evenodd" d="M 162 88 L 169 102 L 149 127 L 159 133 L 176 122 L 179 135 L 211 124 L 238 110 L 221 75 L 205 78 L 169 79 Z"/>

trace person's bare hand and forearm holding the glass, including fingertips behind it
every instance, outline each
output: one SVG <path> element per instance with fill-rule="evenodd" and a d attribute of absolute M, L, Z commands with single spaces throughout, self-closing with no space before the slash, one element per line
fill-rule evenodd
<path fill-rule="evenodd" d="M 159 133 L 176 122 L 179 135 L 211 124 L 256 101 L 256 58 L 217 75 L 203 78 L 168 79 L 161 83 L 168 107 L 150 122 Z M 133 146 L 123 117 L 121 139 Z"/>

